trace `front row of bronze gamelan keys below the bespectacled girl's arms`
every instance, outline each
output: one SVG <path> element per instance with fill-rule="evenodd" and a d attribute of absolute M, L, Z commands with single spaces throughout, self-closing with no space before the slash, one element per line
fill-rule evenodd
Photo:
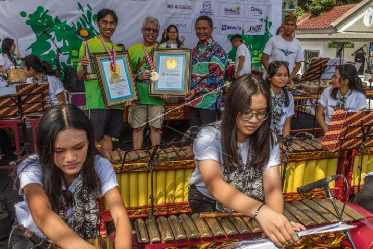
<path fill-rule="evenodd" d="M 343 203 L 337 202 L 339 210 Z M 209 218 L 203 218 L 202 216 Z M 284 215 L 308 228 L 321 224 L 337 223 L 339 219 L 329 199 L 316 198 L 284 202 Z M 365 219 L 365 216 L 349 206 L 342 215 L 345 222 Z M 144 248 L 182 247 L 208 241 L 227 241 L 260 237 L 259 223 L 237 213 L 202 213 L 160 216 L 156 219 L 135 220 L 137 245 Z M 160 246 L 160 247 L 159 247 Z"/>

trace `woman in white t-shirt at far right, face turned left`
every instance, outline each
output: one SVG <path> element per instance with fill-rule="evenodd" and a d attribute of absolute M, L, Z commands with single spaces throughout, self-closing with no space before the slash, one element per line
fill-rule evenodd
<path fill-rule="evenodd" d="M 336 67 L 332 77 L 332 87 L 325 89 L 319 99 L 316 119 L 324 132 L 328 129 L 335 108 L 347 112 L 366 108 L 363 83 L 357 74 L 355 66 L 351 64 Z"/>

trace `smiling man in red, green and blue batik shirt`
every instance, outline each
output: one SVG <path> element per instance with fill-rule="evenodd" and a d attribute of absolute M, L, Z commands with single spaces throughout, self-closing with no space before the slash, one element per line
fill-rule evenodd
<path fill-rule="evenodd" d="M 224 85 L 227 55 L 211 37 L 213 21 L 202 15 L 196 20 L 199 42 L 192 52 L 191 90 L 186 95 L 189 103 L 190 126 L 201 126 L 218 119 Z M 219 89 L 218 89 L 219 88 Z"/>

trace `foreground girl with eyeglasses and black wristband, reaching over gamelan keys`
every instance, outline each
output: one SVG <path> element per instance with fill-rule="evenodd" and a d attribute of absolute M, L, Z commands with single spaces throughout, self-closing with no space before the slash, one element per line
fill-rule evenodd
<path fill-rule="evenodd" d="M 222 120 L 204 126 L 194 141 L 188 201 L 193 213 L 253 217 L 263 236 L 285 246 L 299 243 L 294 230 L 305 228 L 282 214 L 280 153 L 270 112 L 270 89 L 261 78 L 246 74 L 231 85 Z"/>

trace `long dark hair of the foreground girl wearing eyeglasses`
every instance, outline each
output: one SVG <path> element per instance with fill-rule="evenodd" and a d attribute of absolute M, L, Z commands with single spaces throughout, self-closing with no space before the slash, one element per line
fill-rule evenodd
<path fill-rule="evenodd" d="M 253 95 L 263 94 L 267 100 L 267 112 L 272 111 L 272 100 L 268 84 L 262 78 L 252 74 L 242 75 L 229 87 L 225 100 L 225 109 L 221 122 L 221 143 L 223 162 L 228 169 L 241 167 L 237 154 L 236 120 L 237 116 L 251 106 Z M 271 115 L 250 136 L 253 141 L 253 167 L 263 168 L 269 160 L 271 148 L 277 143 L 276 135 L 271 130 Z"/>

